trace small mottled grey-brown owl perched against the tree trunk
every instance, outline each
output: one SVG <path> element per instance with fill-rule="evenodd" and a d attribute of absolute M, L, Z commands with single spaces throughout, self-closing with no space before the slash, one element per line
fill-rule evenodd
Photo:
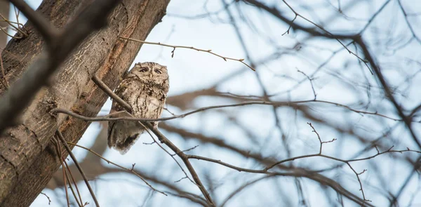
<path fill-rule="evenodd" d="M 166 66 L 155 62 L 136 63 L 116 88 L 116 95 L 132 107 L 133 116 L 145 119 L 161 117 L 169 89 L 168 71 Z M 125 111 L 115 100 L 111 111 Z M 154 122 L 156 128 L 158 122 Z M 145 128 L 138 121 L 109 121 L 108 147 L 113 147 L 121 154 L 126 154 Z"/>

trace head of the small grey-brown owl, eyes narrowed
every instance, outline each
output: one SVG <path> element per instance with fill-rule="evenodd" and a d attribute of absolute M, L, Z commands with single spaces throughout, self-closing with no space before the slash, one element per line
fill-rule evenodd
<path fill-rule="evenodd" d="M 130 72 L 142 81 L 152 81 L 155 84 L 161 84 L 168 81 L 168 71 L 166 66 L 159 65 L 156 62 L 138 62 Z"/>

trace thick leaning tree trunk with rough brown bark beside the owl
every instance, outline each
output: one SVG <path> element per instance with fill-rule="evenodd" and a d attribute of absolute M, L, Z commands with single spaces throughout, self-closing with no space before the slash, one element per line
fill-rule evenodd
<path fill-rule="evenodd" d="M 29 206 L 44 189 L 60 167 L 60 159 L 50 142 L 55 131 L 60 129 L 68 142 L 77 142 L 89 125 L 49 111 L 60 107 L 84 116 L 98 114 L 107 95 L 93 84 L 91 77 L 97 74 L 114 89 L 141 46 L 119 36 L 146 39 L 165 15 L 168 3 L 169 0 L 127 0 L 119 4 L 109 17 L 108 27 L 88 36 L 62 64 L 51 86 L 37 93 L 22 115 L 20 125 L 1 135 L 0 206 Z M 86 1 L 46 0 L 37 11 L 55 27 L 63 27 L 85 5 Z M 6 77 L 0 78 L 6 78 L 10 84 L 42 51 L 40 35 L 30 22 L 25 27 L 29 36 L 10 41 L 2 53 Z M 7 89 L 0 87 L 3 94 Z"/>

